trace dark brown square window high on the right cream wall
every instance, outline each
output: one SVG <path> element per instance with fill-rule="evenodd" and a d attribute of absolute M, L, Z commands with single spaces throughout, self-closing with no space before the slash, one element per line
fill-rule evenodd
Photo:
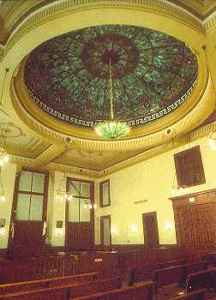
<path fill-rule="evenodd" d="M 206 182 L 200 153 L 200 146 L 174 155 L 177 182 L 180 187 L 188 187 Z"/>

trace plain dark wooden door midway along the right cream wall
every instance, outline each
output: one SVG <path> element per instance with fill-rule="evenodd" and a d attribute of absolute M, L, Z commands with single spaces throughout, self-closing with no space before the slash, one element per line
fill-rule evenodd
<path fill-rule="evenodd" d="M 155 248 L 159 246 L 156 212 L 143 214 L 143 232 L 145 246 L 150 248 Z"/>

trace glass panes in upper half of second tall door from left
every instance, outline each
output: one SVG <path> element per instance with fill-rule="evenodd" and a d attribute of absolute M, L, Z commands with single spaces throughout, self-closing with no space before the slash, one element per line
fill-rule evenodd
<path fill-rule="evenodd" d="M 68 192 L 73 199 L 68 203 L 68 221 L 73 223 L 91 222 L 91 183 L 68 180 Z"/>

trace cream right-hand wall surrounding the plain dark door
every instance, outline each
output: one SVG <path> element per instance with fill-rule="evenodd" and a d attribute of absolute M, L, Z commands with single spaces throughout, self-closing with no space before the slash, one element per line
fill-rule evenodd
<path fill-rule="evenodd" d="M 176 185 L 173 154 L 198 144 L 201 148 L 206 184 L 176 190 L 173 194 L 172 185 Z M 112 204 L 96 210 L 96 243 L 100 243 L 100 216 L 110 214 L 113 244 L 142 244 L 142 214 L 152 211 L 157 212 L 160 244 L 176 243 L 173 209 L 169 197 L 215 188 L 215 162 L 216 151 L 209 149 L 207 138 L 202 138 L 103 178 L 110 179 Z M 147 201 L 134 203 L 142 200 Z"/>

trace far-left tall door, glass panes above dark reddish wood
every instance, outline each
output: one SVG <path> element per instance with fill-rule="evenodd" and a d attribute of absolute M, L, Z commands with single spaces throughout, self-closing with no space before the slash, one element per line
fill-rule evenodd
<path fill-rule="evenodd" d="M 39 256 L 45 244 L 48 175 L 22 171 L 16 179 L 9 251 Z"/>

